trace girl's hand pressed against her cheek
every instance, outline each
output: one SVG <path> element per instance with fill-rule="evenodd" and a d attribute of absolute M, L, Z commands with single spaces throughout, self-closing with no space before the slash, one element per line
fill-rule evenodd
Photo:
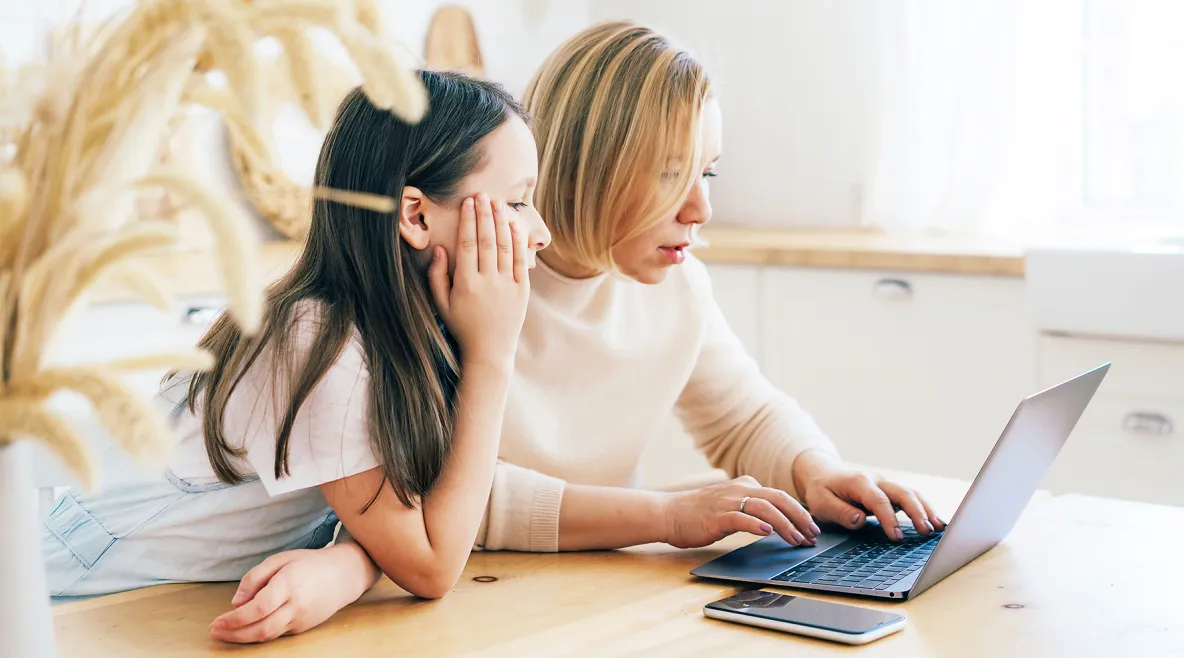
<path fill-rule="evenodd" d="M 530 296 L 527 234 L 484 193 L 465 199 L 457 227 L 456 270 L 437 246 L 427 278 L 436 308 L 461 346 L 464 366 L 511 366 Z"/>

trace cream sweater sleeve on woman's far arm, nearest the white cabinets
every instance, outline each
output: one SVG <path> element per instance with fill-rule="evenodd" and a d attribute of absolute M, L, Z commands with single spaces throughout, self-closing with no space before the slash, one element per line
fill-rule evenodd
<path fill-rule="evenodd" d="M 675 413 L 696 447 L 731 477 L 748 475 L 794 498 L 793 460 L 803 451 L 835 445 L 796 400 L 760 373 L 728 327 L 712 293 L 706 267 L 688 260 L 688 278 L 703 307 L 706 328 L 699 360 Z"/>

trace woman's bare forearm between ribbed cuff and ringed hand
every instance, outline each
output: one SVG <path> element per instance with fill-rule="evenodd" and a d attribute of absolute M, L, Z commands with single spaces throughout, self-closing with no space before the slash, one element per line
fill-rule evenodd
<path fill-rule="evenodd" d="M 665 541 L 669 494 L 568 483 L 559 508 L 559 550 Z"/>

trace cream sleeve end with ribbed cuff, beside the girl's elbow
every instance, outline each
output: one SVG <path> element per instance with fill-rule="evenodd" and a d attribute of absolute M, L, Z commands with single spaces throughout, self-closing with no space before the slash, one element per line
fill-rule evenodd
<path fill-rule="evenodd" d="M 558 551 L 562 498 L 564 480 L 498 462 L 474 548 Z"/>

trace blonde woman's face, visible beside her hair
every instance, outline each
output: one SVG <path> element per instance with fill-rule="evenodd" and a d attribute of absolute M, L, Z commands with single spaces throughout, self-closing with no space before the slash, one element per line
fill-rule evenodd
<path fill-rule="evenodd" d="M 720 103 L 714 97 L 703 104 L 700 140 L 703 144 L 699 180 L 682 204 L 650 230 L 612 247 L 612 259 L 622 272 L 642 283 L 661 283 L 670 267 L 682 264 L 694 231 L 712 220 L 708 181 L 715 175 L 722 144 Z M 654 185 L 662 185 L 654 181 Z"/>

